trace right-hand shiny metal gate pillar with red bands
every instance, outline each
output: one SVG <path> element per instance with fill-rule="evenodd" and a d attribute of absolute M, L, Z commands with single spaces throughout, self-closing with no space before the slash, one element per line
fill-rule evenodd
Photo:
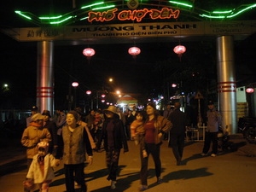
<path fill-rule="evenodd" d="M 230 134 L 237 132 L 236 72 L 234 66 L 234 39 L 217 38 L 218 105 L 222 114 L 222 127 Z"/>

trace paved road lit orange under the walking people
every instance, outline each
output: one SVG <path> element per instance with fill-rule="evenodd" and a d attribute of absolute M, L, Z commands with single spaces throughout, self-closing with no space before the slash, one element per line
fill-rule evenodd
<path fill-rule="evenodd" d="M 218 156 L 213 158 L 199 155 L 203 147 L 202 142 L 188 142 L 184 148 L 183 165 L 176 166 L 172 150 L 167 147 L 167 142 L 165 142 L 161 147 L 164 183 L 155 183 L 154 163 L 150 157 L 148 189 L 146 191 L 254 192 L 256 189 L 256 157 L 248 157 L 246 151 L 250 150 L 250 153 L 252 153 L 256 145 L 244 144 L 245 141 L 236 140 L 236 145 L 240 147 L 238 151 L 219 152 Z M 130 152 L 120 155 L 120 171 L 116 189 L 110 189 L 110 182 L 106 179 L 108 172 L 105 168 L 104 151 L 102 153 L 94 153 L 93 165 L 84 169 L 89 192 L 137 191 L 140 184 L 138 148 L 131 141 L 129 141 L 129 147 Z M 1 165 L 3 167 L 3 163 Z M 19 161 L 12 167 L 12 172 L 3 174 L 0 177 L 0 191 L 22 192 L 22 181 L 26 176 L 24 160 Z M 50 192 L 65 191 L 62 167 L 61 165 L 55 170 L 55 180 L 51 183 Z"/>

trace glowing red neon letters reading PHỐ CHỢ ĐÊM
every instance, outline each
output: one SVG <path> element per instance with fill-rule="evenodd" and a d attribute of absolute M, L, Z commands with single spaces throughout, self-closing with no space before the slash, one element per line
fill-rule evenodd
<path fill-rule="evenodd" d="M 180 10 L 177 9 L 173 11 L 172 9 L 163 8 L 161 10 L 158 9 L 134 9 L 134 10 L 123 10 L 120 11 L 118 14 L 116 13 L 118 11 L 117 8 L 110 9 L 108 11 L 104 12 L 89 12 L 88 21 L 91 22 L 93 20 L 96 21 L 110 21 L 116 18 L 118 20 L 137 20 L 137 22 L 140 22 L 143 20 L 143 18 L 146 15 L 149 15 L 150 19 L 156 20 L 156 19 L 177 19 Z"/>

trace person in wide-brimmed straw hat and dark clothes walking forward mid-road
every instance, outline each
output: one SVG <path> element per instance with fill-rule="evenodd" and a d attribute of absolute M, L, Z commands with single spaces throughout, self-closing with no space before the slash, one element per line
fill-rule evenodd
<path fill-rule="evenodd" d="M 125 137 L 124 124 L 119 119 L 117 108 L 109 106 L 103 110 L 106 115 L 102 125 L 102 134 L 96 144 L 96 150 L 101 148 L 102 141 L 106 151 L 106 163 L 108 166 L 108 180 L 111 180 L 111 189 L 115 189 L 116 177 L 119 168 L 119 154 L 121 148 L 124 148 L 124 153 L 128 152 L 128 144 Z"/>

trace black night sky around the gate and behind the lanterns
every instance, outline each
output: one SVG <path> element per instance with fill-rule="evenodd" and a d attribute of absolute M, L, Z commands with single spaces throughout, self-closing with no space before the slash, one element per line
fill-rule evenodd
<path fill-rule="evenodd" d="M 83 2 L 82 0 L 77 1 L 78 7 Z M 203 5 L 204 1 L 195 2 L 201 2 Z M 223 1 L 208 1 L 209 5 L 211 3 L 216 5 L 216 2 Z M 234 1 L 225 3 L 231 6 L 232 2 Z M 240 2 L 244 3 L 245 1 Z M 86 1 L 86 3 L 89 2 Z M 38 15 L 67 13 L 72 9 L 72 1 L 1 1 L 0 27 L 33 26 L 15 15 L 15 9 L 24 11 L 27 9 L 27 11 Z M 235 44 L 236 67 L 239 72 L 237 76 L 243 81 L 252 80 L 246 78 L 252 76 L 253 73 L 255 74 L 255 67 L 253 67 L 255 64 L 253 58 L 256 50 L 255 39 L 254 35 Z M 19 43 L 2 33 L 0 33 L 0 43 L 0 83 L 10 84 L 10 90 L 16 97 L 35 96 L 36 43 Z M 174 42 L 137 44 L 142 49 L 142 53 L 137 56 L 136 60 L 127 53 L 131 44 L 96 44 L 93 45 L 93 48 L 96 49 L 96 55 L 93 56 L 90 63 L 82 55 L 84 45 L 55 45 L 55 95 L 65 97 L 68 86 L 73 80 L 79 81 L 81 91 L 101 89 L 102 85 L 108 87 L 106 82 L 109 77 L 114 79 L 115 87 L 119 87 L 125 92 L 148 93 L 151 90 L 160 89 L 165 76 L 172 77 L 172 75 L 182 73 L 181 70 L 189 68 L 191 68 L 191 73 L 200 69 L 201 73 L 205 73 L 204 76 L 208 76 L 209 79 L 216 79 L 215 42 L 198 41 L 183 42 L 183 44 L 188 49 L 183 55 L 182 61 L 179 61 L 177 55 L 172 51 L 173 47 L 177 45 Z"/>

